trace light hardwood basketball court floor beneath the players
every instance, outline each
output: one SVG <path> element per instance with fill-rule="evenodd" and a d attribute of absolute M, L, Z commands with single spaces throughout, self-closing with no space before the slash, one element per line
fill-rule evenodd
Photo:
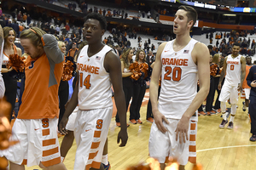
<path fill-rule="evenodd" d="M 120 148 L 116 142 L 119 127 L 115 126 L 114 118 L 112 118 L 108 131 L 108 159 L 112 170 L 125 170 L 126 167 L 143 162 L 148 158 L 148 137 L 151 123 L 145 120 L 147 102 L 146 99 L 141 108 L 143 124 L 131 124 L 127 128 L 129 139 L 123 148 Z M 250 121 L 247 113 L 241 110 L 241 102 L 242 100 L 239 99 L 233 130 L 218 128 L 222 121 L 220 114 L 199 116 L 196 138 L 197 162 L 203 165 L 204 170 L 256 169 L 256 143 L 249 141 L 251 137 Z M 129 113 L 127 120 L 129 120 Z M 60 144 L 62 139 L 63 137 L 59 139 Z M 75 151 L 76 144 L 74 142 L 64 161 L 68 170 L 73 169 Z M 39 169 L 39 167 L 26 167 L 26 169 Z M 186 170 L 192 170 L 190 163 L 186 166 Z"/>

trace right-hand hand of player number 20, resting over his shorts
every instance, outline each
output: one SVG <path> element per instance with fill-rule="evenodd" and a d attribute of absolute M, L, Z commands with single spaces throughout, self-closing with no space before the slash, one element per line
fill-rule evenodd
<path fill-rule="evenodd" d="M 179 138 L 179 143 L 182 144 L 186 142 L 186 139 L 189 139 L 189 118 L 182 116 L 182 118 L 177 123 L 176 132 L 176 141 Z"/>

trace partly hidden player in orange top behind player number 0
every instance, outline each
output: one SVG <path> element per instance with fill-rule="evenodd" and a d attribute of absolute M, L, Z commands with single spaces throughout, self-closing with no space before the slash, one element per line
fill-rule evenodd
<path fill-rule="evenodd" d="M 253 66 L 251 56 L 247 56 L 246 61 L 247 61 L 247 65 L 246 65 L 245 77 L 247 77 L 251 67 Z M 246 111 L 246 110 L 248 111 L 250 91 L 251 91 L 251 88 L 247 85 L 247 78 L 245 78 L 244 81 L 242 82 L 242 92 L 241 92 L 241 99 L 245 99 L 245 101 L 242 102 L 242 111 Z"/>

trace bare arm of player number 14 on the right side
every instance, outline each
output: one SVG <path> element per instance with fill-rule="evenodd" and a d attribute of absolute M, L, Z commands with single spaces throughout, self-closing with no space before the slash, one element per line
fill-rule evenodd
<path fill-rule="evenodd" d="M 106 54 L 104 59 L 104 67 L 106 71 L 109 72 L 111 82 L 113 84 L 114 91 L 114 101 L 119 112 L 119 119 L 121 124 L 121 129 L 118 134 L 117 142 L 121 139 L 121 144 L 119 146 L 125 146 L 128 135 L 127 135 L 127 125 L 126 125 L 126 107 L 125 107 L 125 94 L 122 86 L 122 71 L 119 57 L 113 53 L 113 51 Z"/>

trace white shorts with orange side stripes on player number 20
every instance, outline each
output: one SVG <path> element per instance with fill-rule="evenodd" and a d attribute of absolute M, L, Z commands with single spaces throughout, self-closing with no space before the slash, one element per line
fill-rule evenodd
<path fill-rule="evenodd" d="M 165 163 L 169 156 L 176 158 L 180 165 L 186 165 L 188 161 L 196 163 L 195 137 L 197 122 L 189 122 L 189 139 L 185 143 L 179 144 L 179 139 L 176 141 L 175 132 L 179 120 L 170 118 L 167 118 L 167 120 L 169 124 L 163 122 L 167 128 L 166 133 L 161 133 L 156 124 L 152 124 L 148 143 L 149 156 L 157 159 L 160 163 Z"/>

